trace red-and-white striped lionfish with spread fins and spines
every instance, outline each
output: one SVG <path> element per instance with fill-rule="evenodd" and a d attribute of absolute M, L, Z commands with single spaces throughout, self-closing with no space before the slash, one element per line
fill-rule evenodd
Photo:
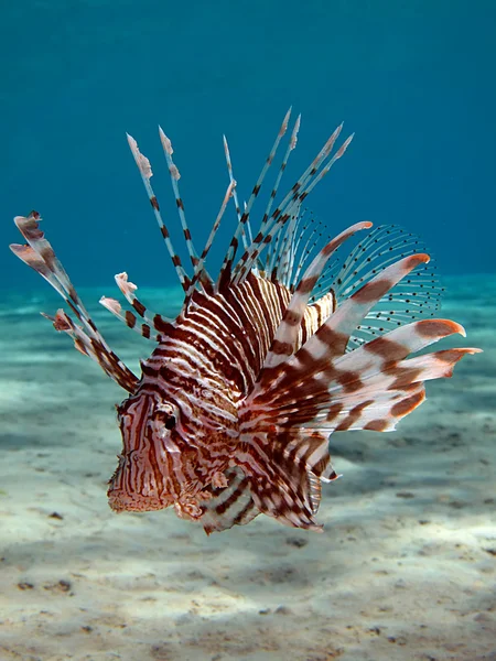
<path fill-rule="evenodd" d="M 274 206 L 296 144 L 296 119 L 258 231 L 251 231 L 252 207 L 290 112 L 242 207 L 224 138 L 229 184 L 201 253 L 186 224 L 172 144 L 159 128 L 191 274 L 162 218 L 150 162 L 128 136 L 184 291 L 175 318 L 147 308 L 127 273 L 116 281 L 132 311 L 114 299 L 100 300 L 157 344 L 141 361 L 140 377 L 91 321 L 40 229 L 40 215 L 14 219 L 26 243 L 12 245 L 12 251 L 48 281 L 77 321 L 63 310 L 47 318 L 128 392 L 117 405 L 123 449 L 108 489 L 118 512 L 172 505 L 179 517 L 200 521 L 207 533 L 248 523 L 262 512 L 320 531 L 321 483 L 338 477 L 328 453 L 331 434 L 393 430 L 424 400 L 424 381 L 450 377 L 465 354 L 478 351 L 454 348 L 409 358 L 443 337 L 465 335 L 460 324 L 432 318 L 442 289 L 414 235 L 377 227 L 344 261 L 332 259 L 336 249 L 371 223 L 357 223 L 319 245 L 322 228 L 306 220 L 302 203 L 348 147 L 353 136 L 334 151 L 342 126 Z M 237 225 L 214 280 L 206 258 L 231 198 Z"/>

